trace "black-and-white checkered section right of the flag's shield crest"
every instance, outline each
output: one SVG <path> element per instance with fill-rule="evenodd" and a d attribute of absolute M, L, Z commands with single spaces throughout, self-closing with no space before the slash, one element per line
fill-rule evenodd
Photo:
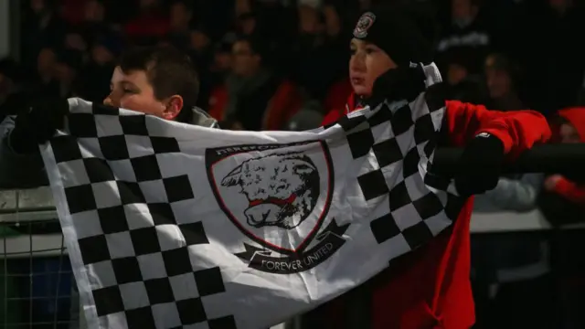
<path fill-rule="evenodd" d="M 449 226 L 464 201 L 448 179 L 427 173 L 444 101 L 423 94 L 411 103 L 379 104 L 373 115 L 368 111 L 350 113 L 330 127 L 340 125 L 353 158 L 369 164 L 357 176 L 365 200 L 387 203 L 387 212 L 370 222 L 378 243 L 400 236 L 416 249 Z"/>

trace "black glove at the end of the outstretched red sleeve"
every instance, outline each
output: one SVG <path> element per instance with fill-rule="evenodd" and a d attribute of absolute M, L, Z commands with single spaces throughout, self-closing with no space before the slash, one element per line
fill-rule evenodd
<path fill-rule="evenodd" d="M 502 174 L 504 143 L 489 133 L 479 133 L 467 144 L 459 160 L 455 187 L 460 196 L 492 190 Z"/>

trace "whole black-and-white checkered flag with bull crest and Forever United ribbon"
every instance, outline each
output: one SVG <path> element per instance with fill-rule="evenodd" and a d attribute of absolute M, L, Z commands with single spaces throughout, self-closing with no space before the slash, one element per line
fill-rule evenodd
<path fill-rule="evenodd" d="M 461 207 L 427 173 L 444 107 L 425 93 L 301 133 L 69 105 L 41 151 L 90 328 L 279 324 L 386 269 Z"/>

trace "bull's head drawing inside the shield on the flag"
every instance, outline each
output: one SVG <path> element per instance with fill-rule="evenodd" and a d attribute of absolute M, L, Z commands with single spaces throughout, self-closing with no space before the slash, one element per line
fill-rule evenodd
<path fill-rule="evenodd" d="M 320 191 L 319 171 L 301 153 L 271 154 L 239 164 L 222 186 L 239 186 L 249 207 L 244 211 L 253 228 L 296 228 L 313 211 Z"/>

